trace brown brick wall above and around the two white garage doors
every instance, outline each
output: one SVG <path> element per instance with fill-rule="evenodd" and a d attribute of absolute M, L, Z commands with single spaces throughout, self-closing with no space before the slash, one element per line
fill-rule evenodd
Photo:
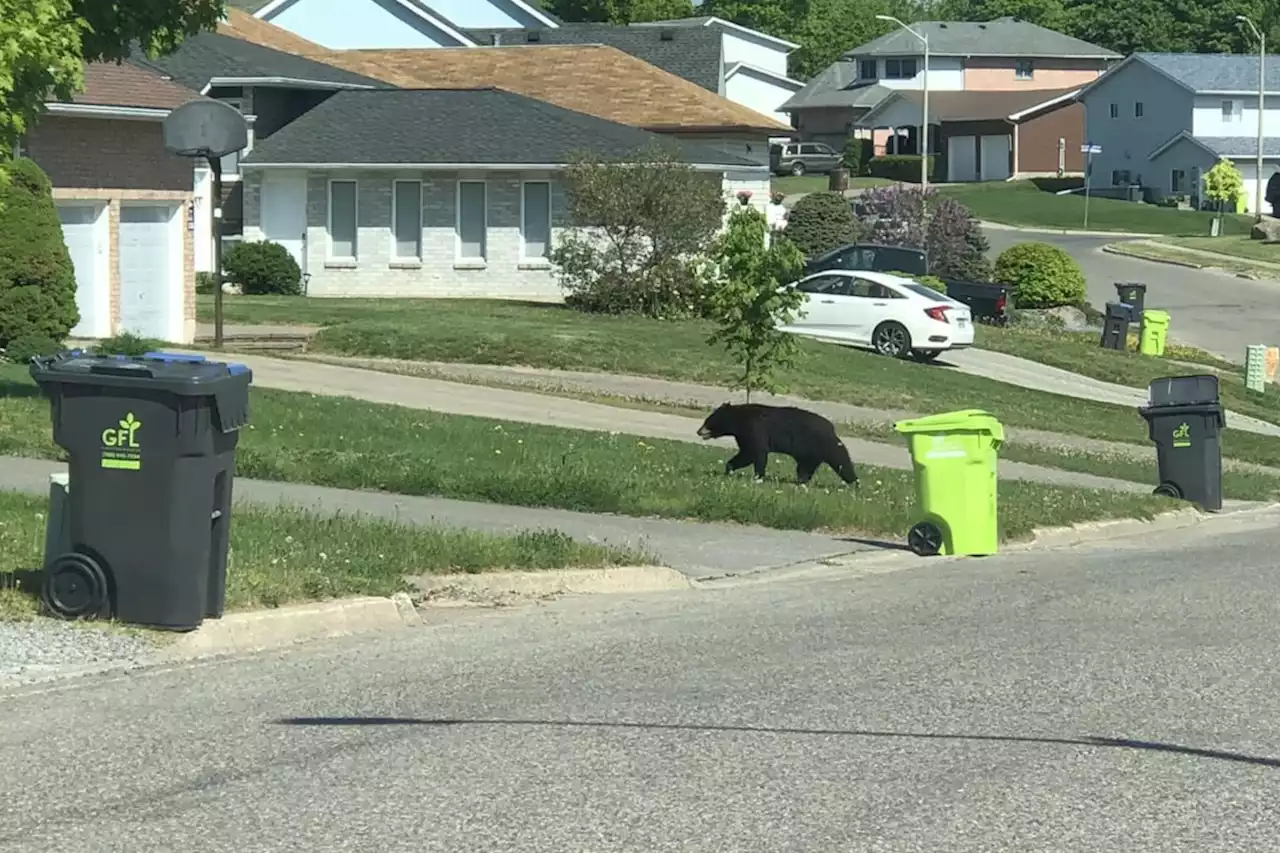
<path fill-rule="evenodd" d="M 177 207 L 180 222 L 192 222 L 192 161 L 169 154 L 159 122 L 46 115 L 27 136 L 27 154 L 54 186 L 54 201 L 92 201 L 108 215 L 108 316 L 110 332 L 120 323 L 120 206 L 154 201 Z M 195 234 L 182 229 L 182 328 L 174 343 L 196 337 Z"/>

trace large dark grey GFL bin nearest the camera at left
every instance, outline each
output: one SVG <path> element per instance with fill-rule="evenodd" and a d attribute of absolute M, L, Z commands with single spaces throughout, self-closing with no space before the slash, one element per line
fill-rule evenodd
<path fill-rule="evenodd" d="M 170 630 L 221 616 L 250 370 L 72 351 L 35 360 L 31 375 L 70 475 L 70 551 L 46 555 L 46 608 Z"/>

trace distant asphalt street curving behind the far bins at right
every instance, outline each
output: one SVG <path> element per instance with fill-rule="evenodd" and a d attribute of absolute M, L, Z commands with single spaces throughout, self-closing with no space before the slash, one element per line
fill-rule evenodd
<path fill-rule="evenodd" d="M 1147 307 L 1172 315 L 1169 336 L 1180 343 L 1244 361 L 1249 343 L 1280 343 L 1280 282 L 1248 280 L 1216 270 L 1155 264 L 1108 255 L 1102 246 L 1115 237 L 1075 237 L 1051 232 L 988 228 L 992 256 L 1014 243 L 1039 240 L 1060 246 L 1084 269 L 1089 302 L 1102 310 L 1116 301 L 1115 282 L 1144 282 Z"/>

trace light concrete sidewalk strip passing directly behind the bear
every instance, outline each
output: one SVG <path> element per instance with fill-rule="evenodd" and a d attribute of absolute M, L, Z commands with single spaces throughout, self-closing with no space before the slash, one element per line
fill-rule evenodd
<path fill-rule="evenodd" d="M 210 357 L 215 357 L 210 355 Z M 444 382 L 424 377 L 381 373 L 317 361 L 269 359 L 264 356 L 221 356 L 248 365 L 253 383 L 262 388 L 296 391 L 334 397 L 351 397 L 369 402 L 425 409 L 452 415 L 472 415 L 526 424 L 544 424 L 568 429 L 625 433 L 646 438 L 667 438 L 699 443 L 700 419 L 681 418 L 655 411 L 620 409 L 566 397 L 550 397 L 527 391 Z M 719 442 L 732 446 L 732 441 Z M 910 470 L 911 459 L 905 444 L 884 444 L 860 438 L 845 438 L 856 464 Z M 1029 480 L 1120 492 L 1149 492 L 1149 485 L 1115 480 L 1092 474 L 1061 471 L 1024 462 L 1002 461 L 1000 478 Z"/>

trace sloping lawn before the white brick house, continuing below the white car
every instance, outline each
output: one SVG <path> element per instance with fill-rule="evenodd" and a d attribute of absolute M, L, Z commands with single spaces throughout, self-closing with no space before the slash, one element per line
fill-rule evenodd
<path fill-rule="evenodd" d="M 559 305 L 479 300 L 241 297 L 225 305 L 228 323 L 326 325 L 312 348 L 334 355 L 593 370 L 710 386 L 726 384 L 735 374 L 723 351 L 707 345 L 710 329 L 699 321 L 598 316 Z M 781 379 L 792 393 L 810 400 L 911 412 L 980 407 L 1010 426 L 1147 443 L 1146 424 L 1132 407 L 813 341 L 803 341 L 800 348 L 803 359 Z M 1280 439 L 1229 429 L 1224 447 L 1240 459 L 1280 465 Z"/>

